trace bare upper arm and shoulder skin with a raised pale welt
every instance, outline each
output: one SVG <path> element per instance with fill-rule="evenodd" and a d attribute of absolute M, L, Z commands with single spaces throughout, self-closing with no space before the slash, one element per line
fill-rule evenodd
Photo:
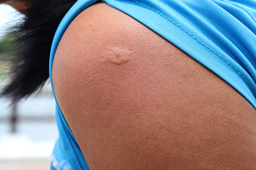
<path fill-rule="evenodd" d="M 256 169 L 256 113 L 231 86 L 106 4 L 55 54 L 57 100 L 90 169 Z"/>

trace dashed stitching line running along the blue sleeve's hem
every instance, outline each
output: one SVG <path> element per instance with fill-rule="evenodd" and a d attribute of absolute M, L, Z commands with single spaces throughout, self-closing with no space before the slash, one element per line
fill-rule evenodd
<path fill-rule="evenodd" d="M 216 54 L 218 57 L 220 57 L 221 59 L 224 60 L 224 62 L 226 62 L 228 65 L 230 65 L 234 70 L 236 70 L 236 72 L 238 72 L 238 74 L 245 80 L 245 82 L 248 84 L 248 86 L 251 88 L 252 92 L 255 92 L 254 89 L 252 88 L 251 84 L 249 84 L 248 80 L 242 75 L 241 72 L 239 72 L 239 70 L 232 65 L 232 63 L 229 63 L 226 59 L 224 59 L 224 57 L 220 56 L 220 54 L 218 54 L 217 52 L 215 52 L 213 49 L 211 49 L 210 47 L 208 47 L 205 43 L 202 43 L 201 40 L 199 40 L 198 38 L 196 38 L 195 36 L 193 36 L 191 33 L 189 33 L 187 30 L 185 30 L 185 28 L 183 28 L 181 25 L 177 24 L 176 22 L 174 22 L 173 20 L 171 20 L 170 18 L 166 17 L 166 15 L 162 14 L 161 12 L 151 8 L 151 7 L 148 7 L 147 5 L 145 4 L 142 4 L 141 2 L 139 1 L 136 1 L 136 0 L 132 0 L 140 5 L 142 5 L 143 7 L 146 7 L 148 9 L 151 9 L 151 11 L 154 11 L 154 12 L 157 12 L 157 14 L 160 14 L 162 17 L 166 18 L 168 21 L 170 21 L 171 23 L 177 25 L 177 27 L 179 27 L 180 29 L 182 29 L 185 33 L 189 34 L 189 36 L 191 36 L 193 39 L 195 39 L 196 41 L 198 41 L 199 43 L 201 43 L 203 46 L 205 46 L 208 50 L 210 50 L 211 52 L 213 52 L 214 54 Z"/>

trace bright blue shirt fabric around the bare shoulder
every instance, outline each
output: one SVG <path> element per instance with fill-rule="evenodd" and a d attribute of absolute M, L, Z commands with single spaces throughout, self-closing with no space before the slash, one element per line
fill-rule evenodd
<path fill-rule="evenodd" d="M 64 31 L 81 11 L 96 2 L 77 1 L 61 21 L 50 54 L 51 84 L 52 62 Z M 233 86 L 256 108 L 255 0 L 104 2 L 145 24 L 182 49 Z M 54 92 L 53 86 L 52 90 Z M 89 169 L 58 103 L 56 117 L 60 137 L 52 155 L 52 169 Z"/>

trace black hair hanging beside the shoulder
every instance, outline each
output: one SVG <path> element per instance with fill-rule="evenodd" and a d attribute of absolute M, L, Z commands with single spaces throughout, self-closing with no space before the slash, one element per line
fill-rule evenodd
<path fill-rule="evenodd" d="M 31 2 L 26 18 L 15 26 L 14 45 L 18 50 L 13 60 L 11 81 L 1 95 L 13 102 L 40 89 L 49 77 L 49 52 L 58 24 L 76 0 L 23 0 Z"/>

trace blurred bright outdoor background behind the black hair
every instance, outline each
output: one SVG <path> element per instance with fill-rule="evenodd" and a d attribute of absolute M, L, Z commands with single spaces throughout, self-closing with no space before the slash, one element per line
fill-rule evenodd
<path fill-rule="evenodd" d="M 10 6 L 0 5 L 0 91 L 8 82 L 10 59 L 15 57 L 8 30 L 23 17 Z M 0 97 L 0 169 L 50 169 L 49 159 L 58 137 L 54 114 L 49 82 L 39 94 L 14 107 Z"/>

